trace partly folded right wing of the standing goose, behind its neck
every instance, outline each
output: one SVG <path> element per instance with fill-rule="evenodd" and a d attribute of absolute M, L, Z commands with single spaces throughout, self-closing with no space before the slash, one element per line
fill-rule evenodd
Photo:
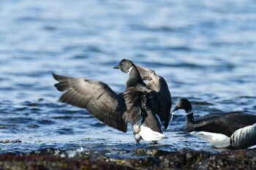
<path fill-rule="evenodd" d="M 138 65 L 136 65 L 136 67 L 140 72 L 140 77 L 143 80 L 148 80 L 148 82 L 146 82 L 147 87 L 151 90 L 155 90 L 159 95 L 163 110 L 163 115 L 159 115 L 159 117 L 161 121 L 165 121 L 165 128 L 167 128 L 170 121 L 170 109 L 172 107 L 172 99 L 167 82 L 163 77 L 157 75 L 154 70 L 146 69 Z"/>

